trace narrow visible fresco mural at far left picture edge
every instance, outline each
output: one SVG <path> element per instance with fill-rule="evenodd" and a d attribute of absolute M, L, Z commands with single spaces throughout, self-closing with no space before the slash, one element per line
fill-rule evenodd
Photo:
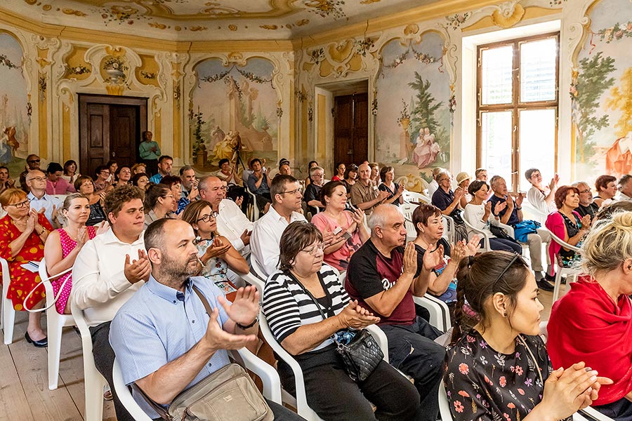
<path fill-rule="evenodd" d="M 24 169 L 29 150 L 30 105 L 22 74 L 22 47 L 0 32 L 0 165 L 11 175 Z"/>

